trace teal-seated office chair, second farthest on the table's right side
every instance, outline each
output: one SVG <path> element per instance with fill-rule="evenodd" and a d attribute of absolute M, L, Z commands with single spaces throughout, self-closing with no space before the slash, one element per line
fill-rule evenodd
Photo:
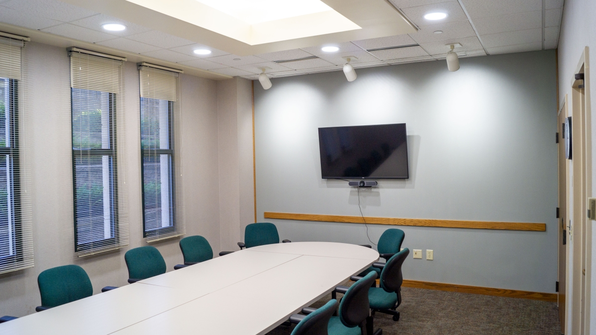
<path fill-rule="evenodd" d="M 372 309 L 371 316 L 375 312 L 393 315 L 393 321 L 399 321 L 399 312 L 395 309 L 402 303 L 402 265 L 408 258 L 409 249 L 405 248 L 396 253 L 386 263 L 373 263 L 373 266 L 381 268 L 381 287 L 371 287 L 368 291 L 368 300 Z M 360 277 L 352 276 L 351 280 L 359 280 Z M 372 322 L 370 322 L 372 325 Z M 372 327 L 371 327 L 372 330 Z"/>

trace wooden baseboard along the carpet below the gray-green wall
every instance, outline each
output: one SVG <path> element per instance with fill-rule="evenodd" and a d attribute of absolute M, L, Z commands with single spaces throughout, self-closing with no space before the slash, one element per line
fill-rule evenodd
<path fill-rule="evenodd" d="M 432 283 L 430 281 L 403 280 L 403 287 L 414 287 L 415 289 L 428 289 L 439 291 L 450 291 L 459 293 L 483 294 L 485 296 L 510 297 L 521 299 L 542 300 L 557 302 L 557 293 L 542 293 L 531 291 L 493 289 L 491 287 L 466 286 L 457 284 Z"/>

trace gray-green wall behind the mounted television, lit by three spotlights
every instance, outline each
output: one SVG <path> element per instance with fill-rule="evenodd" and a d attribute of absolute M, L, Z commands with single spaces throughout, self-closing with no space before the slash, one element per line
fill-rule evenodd
<path fill-rule="evenodd" d="M 554 292 L 557 147 L 554 51 L 272 79 L 254 85 L 257 218 L 360 215 L 357 191 L 321 179 L 317 128 L 406 123 L 411 178 L 361 191 L 364 216 L 545 222 L 547 231 L 395 227 L 404 278 Z M 370 244 L 362 224 L 271 220 L 280 238 Z M 368 225 L 377 243 L 386 225 Z"/>

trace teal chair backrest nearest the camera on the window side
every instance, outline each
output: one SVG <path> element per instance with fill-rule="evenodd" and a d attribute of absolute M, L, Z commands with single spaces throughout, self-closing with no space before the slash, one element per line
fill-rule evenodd
<path fill-rule="evenodd" d="M 78 265 L 64 265 L 42 271 L 38 276 L 41 304 L 55 307 L 93 295 L 87 272 Z"/>

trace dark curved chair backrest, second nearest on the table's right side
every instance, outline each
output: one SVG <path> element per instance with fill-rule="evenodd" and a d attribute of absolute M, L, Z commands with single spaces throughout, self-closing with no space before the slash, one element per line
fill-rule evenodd
<path fill-rule="evenodd" d="M 370 313 L 368 305 L 368 289 L 377 279 L 377 272 L 368 272 L 361 280 L 356 281 L 344 294 L 339 304 L 339 319 L 346 327 L 356 327 L 366 320 Z"/>

